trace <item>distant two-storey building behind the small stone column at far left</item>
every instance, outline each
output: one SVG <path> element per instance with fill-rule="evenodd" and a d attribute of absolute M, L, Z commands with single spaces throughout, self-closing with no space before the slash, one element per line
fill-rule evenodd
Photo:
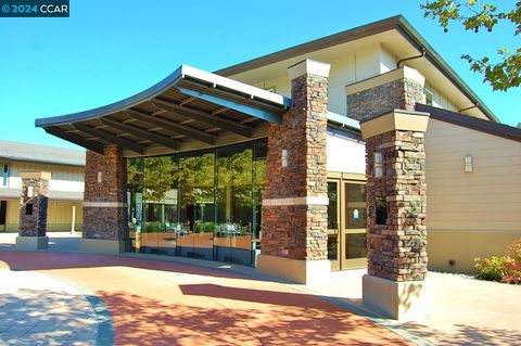
<path fill-rule="evenodd" d="M 80 231 L 82 226 L 85 151 L 0 141 L 0 232 L 20 230 L 21 174 L 47 171 L 49 231 Z"/>

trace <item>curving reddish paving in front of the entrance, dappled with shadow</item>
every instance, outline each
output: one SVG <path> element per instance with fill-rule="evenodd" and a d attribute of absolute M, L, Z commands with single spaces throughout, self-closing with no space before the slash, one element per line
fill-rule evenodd
<path fill-rule="evenodd" d="M 0 252 L 0 269 L 72 281 L 111 311 L 116 345 L 410 345 L 312 295 L 220 270 L 145 258 Z"/>

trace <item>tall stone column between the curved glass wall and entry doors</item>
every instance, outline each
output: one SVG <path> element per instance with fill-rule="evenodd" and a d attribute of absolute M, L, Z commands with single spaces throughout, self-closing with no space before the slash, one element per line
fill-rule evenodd
<path fill-rule="evenodd" d="M 289 68 L 293 106 L 281 125 L 270 125 L 268 133 L 258 270 L 301 283 L 322 281 L 331 270 L 326 166 L 329 69 L 329 64 L 312 60 Z"/>

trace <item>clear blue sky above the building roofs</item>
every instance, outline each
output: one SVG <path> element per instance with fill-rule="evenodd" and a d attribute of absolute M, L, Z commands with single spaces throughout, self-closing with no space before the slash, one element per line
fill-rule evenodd
<path fill-rule="evenodd" d="M 503 123 L 521 121 L 521 88 L 493 92 L 459 59 L 519 47 L 511 26 L 475 35 L 453 25 L 445 34 L 420 2 L 71 0 L 69 18 L 0 18 L 0 138 L 74 148 L 35 128 L 35 118 L 122 100 L 182 63 L 215 71 L 396 14 Z"/>

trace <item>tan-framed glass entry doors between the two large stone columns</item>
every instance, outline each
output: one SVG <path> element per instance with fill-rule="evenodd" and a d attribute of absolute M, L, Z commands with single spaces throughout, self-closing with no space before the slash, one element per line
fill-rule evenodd
<path fill-rule="evenodd" d="M 331 270 L 365 267 L 365 181 L 329 179 L 328 197 L 328 259 L 331 261 Z"/>

